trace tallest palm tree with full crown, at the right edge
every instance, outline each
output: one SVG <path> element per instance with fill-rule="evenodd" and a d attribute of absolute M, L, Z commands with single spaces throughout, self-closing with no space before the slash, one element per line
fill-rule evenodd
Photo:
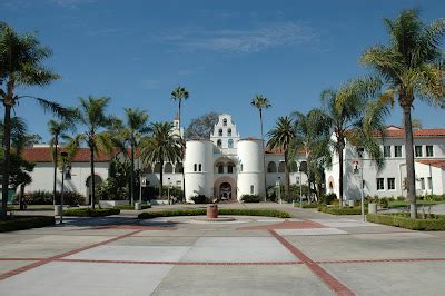
<path fill-rule="evenodd" d="M 403 10 L 398 18 L 384 19 L 390 42 L 374 46 L 362 56 L 364 65 L 373 67 L 385 79 L 403 109 L 407 197 L 411 218 L 417 216 L 416 184 L 411 110 L 414 99 L 433 105 L 445 97 L 444 60 L 439 41 L 445 33 L 445 19 L 425 24 L 417 10 Z"/>

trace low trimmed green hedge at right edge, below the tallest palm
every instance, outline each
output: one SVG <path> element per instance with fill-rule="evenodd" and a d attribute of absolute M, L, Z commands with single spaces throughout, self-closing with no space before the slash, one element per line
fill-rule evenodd
<path fill-rule="evenodd" d="M 367 221 L 402 227 L 412 230 L 445 230 L 445 216 L 435 215 L 431 219 L 411 219 L 400 214 L 368 214 Z"/>

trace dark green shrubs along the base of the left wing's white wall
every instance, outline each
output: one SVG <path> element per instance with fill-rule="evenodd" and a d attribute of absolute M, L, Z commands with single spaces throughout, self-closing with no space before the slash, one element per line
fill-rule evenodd
<path fill-rule="evenodd" d="M 56 201 L 60 203 L 60 191 L 56 191 Z M 44 190 L 26 193 L 23 201 L 27 205 L 52 205 L 52 193 Z M 70 206 L 83 205 L 85 197 L 76 191 L 65 191 L 63 204 Z"/>

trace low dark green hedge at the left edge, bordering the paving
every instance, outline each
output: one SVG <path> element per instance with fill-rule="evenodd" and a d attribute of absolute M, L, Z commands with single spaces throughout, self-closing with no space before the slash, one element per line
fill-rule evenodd
<path fill-rule="evenodd" d="M 39 228 L 55 225 L 53 216 L 14 216 L 0 220 L 0 233 Z"/>

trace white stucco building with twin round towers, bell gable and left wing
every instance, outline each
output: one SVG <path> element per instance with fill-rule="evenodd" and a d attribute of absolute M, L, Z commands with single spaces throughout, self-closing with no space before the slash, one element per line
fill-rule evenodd
<path fill-rule="evenodd" d="M 172 121 L 172 132 L 182 135 L 178 118 Z M 145 176 L 149 186 L 159 185 L 159 172 L 164 171 L 164 186 L 182 188 L 182 169 L 185 179 L 185 195 L 187 201 L 196 195 L 219 197 L 222 199 L 240 200 L 243 195 L 266 195 L 266 187 L 280 184 L 285 179 L 284 155 L 274 151 L 265 151 L 263 162 L 261 140 L 255 138 L 241 138 L 231 116 L 222 114 L 215 125 L 209 139 L 189 140 L 186 142 L 184 165 L 179 164 L 152 164 L 145 167 Z M 26 191 L 48 190 L 52 191 L 53 166 L 51 151 L 48 146 L 26 148 L 26 159 L 36 162 L 31 172 L 32 184 L 26 187 Z M 106 180 L 109 174 L 111 157 L 100 154 L 96 157 L 97 184 Z M 305 174 L 298 172 L 300 165 L 306 166 L 304 155 L 297 155 L 294 159 L 290 172 L 290 184 L 306 184 Z M 136 167 L 139 167 L 137 160 Z M 89 196 L 89 150 L 79 150 L 72 164 L 70 176 L 67 176 L 67 189 L 76 190 Z M 61 176 L 58 174 L 58 187 Z"/>

